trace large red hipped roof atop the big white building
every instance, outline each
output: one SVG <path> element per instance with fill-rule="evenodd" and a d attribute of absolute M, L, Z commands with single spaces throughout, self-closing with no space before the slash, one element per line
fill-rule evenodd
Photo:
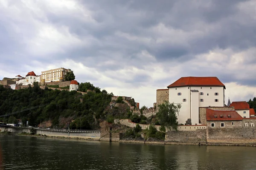
<path fill-rule="evenodd" d="M 181 77 L 167 88 L 182 86 L 223 86 L 226 89 L 217 77 Z"/>

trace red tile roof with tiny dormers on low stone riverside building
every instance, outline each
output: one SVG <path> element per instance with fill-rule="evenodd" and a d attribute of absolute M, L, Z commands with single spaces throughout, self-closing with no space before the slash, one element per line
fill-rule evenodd
<path fill-rule="evenodd" d="M 222 116 L 222 117 L 221 117 Z M 229 117 L 230 116 L 230 117 Z M 215 111 L 212 109 L 206 109 L 206 120 L 242 120 L 236 111 Z"/>

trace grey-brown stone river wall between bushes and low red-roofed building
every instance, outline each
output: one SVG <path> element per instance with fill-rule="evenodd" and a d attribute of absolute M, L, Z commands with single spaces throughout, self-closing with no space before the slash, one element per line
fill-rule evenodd
<path fill-rule="evenodd" d="M 207 129 L 195 131 L 168 131 L 166 132 L 165 142 L 177 142 L 188 144 L 204 144 L 207 142 Z"/>

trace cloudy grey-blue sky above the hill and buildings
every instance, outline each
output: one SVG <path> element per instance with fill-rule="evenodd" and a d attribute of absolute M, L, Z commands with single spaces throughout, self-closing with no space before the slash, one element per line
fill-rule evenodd
<path fill-rule="evenodd" d="M 0 0 L 0 79 L 70 68 L 153 107 L 180 77 L 218 77 L 225 102 L 256 96 L 255 0 Z"/>

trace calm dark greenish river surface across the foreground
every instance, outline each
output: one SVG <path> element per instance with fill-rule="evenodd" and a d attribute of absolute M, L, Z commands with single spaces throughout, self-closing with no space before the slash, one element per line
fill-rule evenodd
<path fill-rule="evenodd" d="M 0 135 L 0 170 L 255 170 L 256 147 L 155 145 Z"/>

